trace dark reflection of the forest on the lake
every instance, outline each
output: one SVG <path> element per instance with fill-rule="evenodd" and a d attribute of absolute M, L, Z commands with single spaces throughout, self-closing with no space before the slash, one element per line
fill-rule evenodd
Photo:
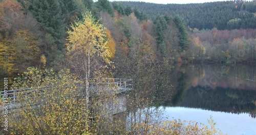
<path fill-rule="evenodd" d="M 163 106 L 256 117 L 256 65 L 186 64 L 175 66 L 169 78 L 174 85 L 173 97 Z"/>

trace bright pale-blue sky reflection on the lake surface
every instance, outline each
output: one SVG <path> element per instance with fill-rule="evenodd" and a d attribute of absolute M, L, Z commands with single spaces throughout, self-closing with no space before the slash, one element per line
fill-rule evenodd
<path fill-rule="evenodd" d="M 169 120 L 173 120 L 172 117 L 174 117 L 174 119 L 196 121 L 204 124 L 207 124 L 207 119 L 212 116 L 217 123 L 215 127 L 219 128 L 224 134 L 256 134 L 256 120 L 251 119 L 247 114 L 229 114 L 185 107 L 167 107 L 165 112 L 168 114 Z"/>

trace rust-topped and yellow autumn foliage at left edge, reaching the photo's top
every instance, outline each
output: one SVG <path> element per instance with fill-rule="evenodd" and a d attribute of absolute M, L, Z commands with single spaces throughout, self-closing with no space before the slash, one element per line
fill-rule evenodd
<path fill-rule="evenodd" d="M 14 74 L 38 66 L 41 49 L 34 34 L 35 20 L 23 14 L 23 7 L 13 0 L 0 3 L 0 12 L 0 70 Z"/>

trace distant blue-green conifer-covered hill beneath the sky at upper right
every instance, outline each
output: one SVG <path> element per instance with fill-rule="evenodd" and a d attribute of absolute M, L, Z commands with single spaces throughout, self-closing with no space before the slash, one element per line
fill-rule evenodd
<path fill-rule="evenodd" d="M 212 29 L 256 29 L 256 1 L 226 1 L 202 4 L 153 4 L 145 2 L 118 2 L 137 7 L 148 18 L 158 15 L 179 15 L 190 28 Z"/>

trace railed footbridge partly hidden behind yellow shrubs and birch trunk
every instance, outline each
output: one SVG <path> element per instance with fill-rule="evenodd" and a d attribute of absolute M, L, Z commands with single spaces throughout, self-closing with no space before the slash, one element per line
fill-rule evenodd
<path fill-rule="evenodd" d="M 120 79 L 120 78 L 91 78 L 89 81 L 89 97 L 90 93 L 97 92 L 100 88 L 104 92 L 111 93 L 111 94 L 120 94 L 125 93 L 128 91 L 132 91 L 133 89 L 133 80 L 132 79 Z M 86 84 L 78 84 L 78 89 L 81 95 L 84 94 Z M 41 87 L 41 89 L 33 89 L 33 88 L 24 88 L 24 89 L 13 89 L 9 90 L 6 93 L 4 91 L 1 92 L 2 103 L 8 104 L 9 108 L 15 108 L 16 102 L 18 102 L 18 96 L 27 96 L 30 97 L 31 95 L 35 95 L 38 93 L 43 93 L 50 89 L 48 86 Z M 4 96 L 8 95 L 8 101 L 6 102 Z M 118 100 L 124 100 L 123 96 L 120 96 Z M 122 105 L 121 105 L 122 106 Z M 3 109 L 3 106 L 1 107 Z"/>

